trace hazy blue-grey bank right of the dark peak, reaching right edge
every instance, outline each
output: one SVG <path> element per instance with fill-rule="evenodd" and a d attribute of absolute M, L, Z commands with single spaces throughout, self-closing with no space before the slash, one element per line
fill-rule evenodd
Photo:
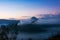
<path fill-rule="evenodd" d="M 42 18 L 36 22 L 36 24 L 60 24 L 60 13 L 55 15 L 53 14 L 44 14 Z"/>

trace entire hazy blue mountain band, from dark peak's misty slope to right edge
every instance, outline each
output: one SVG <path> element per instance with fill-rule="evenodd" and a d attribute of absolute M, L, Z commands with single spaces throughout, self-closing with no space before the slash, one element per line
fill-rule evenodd
<path fill-rule="evenodd" d="M 36 18 L 36 17 L 31 17 L 30 19 L 27 20 L 20 20 L 18 23 L 19 25 L 27 25 L 27 24 L 60 24 L 60 13 L 57 14 L 43 14 L 40 15 L 43 16 L 42 18 Z"/>

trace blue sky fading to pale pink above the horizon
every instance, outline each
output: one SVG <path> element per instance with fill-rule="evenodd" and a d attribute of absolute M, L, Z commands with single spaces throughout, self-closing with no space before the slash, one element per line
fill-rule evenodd
<path fill-rule="evenodd" d="M 60 0 L 0 0 L 0 19 L 60 12 Z"/>

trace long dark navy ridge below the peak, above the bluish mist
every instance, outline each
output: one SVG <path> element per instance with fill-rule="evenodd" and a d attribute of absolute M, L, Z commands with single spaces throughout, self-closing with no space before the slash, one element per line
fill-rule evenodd
<path fill-rule="evenodd" d="M 23 32 L 28 32 L 28 33 L 41 33 L 41 32 L 46 32 L 45 28 L 49 27 L 59 27 L 59 24 L 43 24 L 43 25 L 37 25 L 37 24 L 28 24 L 28 25 L 23 25 L 20 26 L 20 30 Z"/>

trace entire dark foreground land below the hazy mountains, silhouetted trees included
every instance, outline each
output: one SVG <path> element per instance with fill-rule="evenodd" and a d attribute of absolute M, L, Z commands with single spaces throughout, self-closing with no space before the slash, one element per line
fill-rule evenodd
<path fill-rule="evenodd" d="M 27 37 L 28 35 L 31 36 L 32 34 L 33 38 L 35 34 L 36 35 L 39 34 L 38 37 L 35 36 L 37 38 L 36 40 L 42 40 L 41 36 L 42 38 L 44 38 L 44 35 L 45 37 L 48 37 L 47 38 L 48 40 L 60 40 L 60 34 L 59 34 L 60 30 L 58 30 L 58 28 L 60 28 L 59 24 L 52 24 L 52 25 L 50 24 L 43 24 L 43 25 L 28 24 L 28 25 L 18 26 L 17 23 L 18 21 L 9 23 L 7 26 L 1 25 L 0 26 L 0 40 L 23 40 L 23 38 L 21 37 L 25 35 L 24 33 L 26 33 L 25 37 Z M 48 32 L 54 33 L 55 31 L 57 32 L 57 35 L 54 35 L 54 36 L 52 35 L 51 37 L 47 36 L 47 35 L 50 35 L 48 34 Z M 20 33 L 22 33 L 23 35 L 21 34 L 19 36 Z M 20 39 L 18 39 L 17 36 L 19 36 Z M 34 39 L 33 38 L 28 38 L 27 40 L 35 40 L 35 38 Z M 44 39 L 44 40 L 47 40 L 47 39 Z"/>

